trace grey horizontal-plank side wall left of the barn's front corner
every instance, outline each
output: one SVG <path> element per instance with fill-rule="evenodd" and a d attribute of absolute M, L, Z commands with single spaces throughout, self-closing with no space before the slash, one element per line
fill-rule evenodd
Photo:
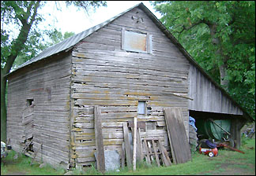
<path fill-rule="evenodd" d="M 70 53 L 49 58 L 8 79 L 7 138 L 15 151 L 23 151 L 25 126 L 21 125 L 22 115 L 27 99 L 33 99 L 30 133 L 33 134 L 34 153 L 30 153 L 33 157 L 38 152 L 37 160 L 43 159 L 55 167 L 59 163 L 66 167 L 69 163 L 70 63 Z"/>

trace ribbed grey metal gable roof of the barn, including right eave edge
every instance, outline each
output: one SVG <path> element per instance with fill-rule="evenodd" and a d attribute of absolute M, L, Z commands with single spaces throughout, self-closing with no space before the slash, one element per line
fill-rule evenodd
<path fill-rule="evenodd" d="M 91 27 L 85 31 L 82 31 L 81 33 L 78 33 L 77 35 L 73 35 L 70 38 L 66 38 L 62 42 L 59 42 L 58 44 L 55 44 L 54 46 L 51 46 L 45 50 L 43 50 L 39 55 L 36 57 L 33 57 L 31 60 L 25 62 L 24 64 L 21 64 L 17 69 L 15 69 L 13 72 L 16 72 L 17 70 L 24 68 L 28 66 L 29 64 L 36 63 L 37 61 L 43 60 L 44 58 L 51 57 L 52 55 L 56 53 L 60 53 L 62 51 L 68 51 L 73 48 L 74 45 L 76 45 L 78 42 L 80 42 L 82 39 L 86 38 L 88 35 L 91 35 L 94 31 L 97 31 L 98 29 L 104 27 L 105 25 L 111 23 L 111 21 L 117 19 L 119 16 L 122 16 L 124 13 L 129 12 L 131 9 L 134 8 L 140 8 L 144 11 L 146 15 L 149 16 L 149 18 L 153 21 L 154 24 L 156 24 L 157 27 L 160 28 L 160 30 L 175 44 L 175 46 L 178 47 L 181 53 L 190 61 L 191 64 L 194 64 L 198 70 L 205 75 L 207 79 L 209 79 L 217 88 L 220 89 L 220 91 L 227 96 L 236 106 L 238 106 L 243 111 L 243 116 L 249 119 L 250 121 L 254 121 L 254 119 L 224 90 L 218 83 L 216 83 L 201 66 L 194 61 L 193 57 L 190 56 L 189 53 L 187 53 L 186 49 L 183 48 L 183 46 L 178 42 L 178 40 L 171 34 L 170 31 L 160 22 L 160 20 L 157 19 L 157 17 L 141 2 L 137 4 L 136 6 L 131 7 L 130 9 L 127 9 L 126 11 L 119 13 L 116 16 L 113 16 L 111 19 L 104 21 L 101 24 L 98 24 L 94 27 Z M 8 75 L 13 74 L 13 72 L 10 72 Z"/>

